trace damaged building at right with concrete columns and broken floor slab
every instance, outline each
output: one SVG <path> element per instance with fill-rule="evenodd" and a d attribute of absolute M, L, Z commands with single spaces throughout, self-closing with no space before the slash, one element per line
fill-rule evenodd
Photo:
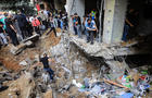
<path fill-rule="evenodd" d="M 72 38 L 72 40 L 85 52 L 94 57 L 103 57 L 105 59 L 115 56 L 151 53 L 150 0 L 139 0 L 138 4 L 136 1 L 131 0 L 67 0 L 66 7 L 68 15 L 78 13 L 81 19 L 87 11 L 93 9 L 99 11 L 97 12 L 99 13 L 99 37 L 101 37 L 99 39 L 101 39 L 102 42 L 96 42 L 94 46 L 88 45 L 88 47 L 86 47 L 86 45 L 84 45 L 85 40 L 75 37 Z M 126 36 L 127 40 L 124 42 L 123 37 L 127 29 L 126 25 L 128 25 L 128 21 L 130 21 L 129 24 L 131 24 L 131 26 Z M 69 26 L 69 32 L 73 32 L 71 17 Z M 143 47 L 144 44 L 149 44 L 149 46 L 145 48 Z M 111 52 L 110 57 L 106 57 L 109 56 L 107 50 Z"/>

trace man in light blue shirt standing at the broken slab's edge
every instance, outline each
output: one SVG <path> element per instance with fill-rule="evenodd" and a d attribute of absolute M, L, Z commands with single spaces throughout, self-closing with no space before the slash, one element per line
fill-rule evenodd
<path fill-rule="evenodd" d="M 94 21 L 92 21 L 91 19 L 88 19 L 86 23 L 87 42 L 91 41 L 91 45 L 93 45 L 93 37 L 97 32 L 98 29 L 97 29 Z"/>

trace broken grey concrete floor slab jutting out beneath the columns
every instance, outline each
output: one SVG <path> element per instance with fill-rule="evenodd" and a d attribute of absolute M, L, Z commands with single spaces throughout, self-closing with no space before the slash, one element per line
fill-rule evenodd
<path fill-rule="evenodd" d="M 92 57 L 103 57 L 106 60 L 114 59 L 116 56 L 131 56 L 131 54 L 142 54 L 151 53 L 148 49 L 136 49 L 131 46 L 137 45 L 138 42 L 131 42 L 126 46 L 118 45 L 106 45 L 94 41 L 93 45 L 87 44 L 85 39 L 78 38 L 77 36 L 71 36 L 71 44 L 77 46 L 85 53 Z"/>

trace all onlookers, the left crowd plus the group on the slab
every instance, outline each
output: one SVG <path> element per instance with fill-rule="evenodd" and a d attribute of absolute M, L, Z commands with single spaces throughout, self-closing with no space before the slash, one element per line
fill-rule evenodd
<path fill-rule="evenodd" d="M 87 42 L 93 44 L 94 34 L 98 33 L 96 25 L 96 12 L 91 11 L 90 14 L 85 15 L 81 22 L 80 16 L 77 13 L 72 15 L 73 27 L 75 35 L 79 38 L 86 35 Z M 40 36 L 43 32 L 50 28 L 56 35 L 55 28 L 61 28 L 62 32 L 68 29 L 67 13 L 61 10 L 50 12 L 48 10 L 41 10 L 35 15 L 25 15 L 22 11 L 17 11 L 16 14 L 4 13 L 0 15 L 0 44 L 7 46 L 12 42 L 14 46 L 20 45 L 20 41 L 30 37 L 34 33 Z"/>

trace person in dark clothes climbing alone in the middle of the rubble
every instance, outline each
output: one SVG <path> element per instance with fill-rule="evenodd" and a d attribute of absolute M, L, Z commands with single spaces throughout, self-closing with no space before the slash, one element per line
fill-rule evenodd
<path fill-rule="evenodd" d="M 47 56 L 47 53 L 45 53 L 42 58 L 40 58 L 39 54 L 39 61 L 42 62 L 43 70 L 49 73 L 50 79 L 53 81 L 54 71 L 49 66 L 49 57 Z"/>

